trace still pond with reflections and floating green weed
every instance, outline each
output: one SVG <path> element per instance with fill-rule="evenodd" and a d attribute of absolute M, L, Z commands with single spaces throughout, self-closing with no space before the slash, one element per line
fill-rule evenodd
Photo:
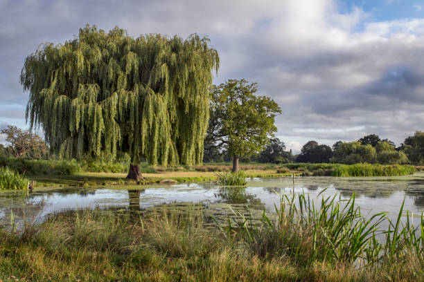
<path fill-rule="evenodd" d="M 75 209 L 145 210 L 162 205 L 183 208 L 192 203 L 216 216 L 227 216 L 233 210 L 265 209 L 272 214 L 279 205 L 280 194 L 305 193 L 316 199 L 339 195 L 346 200 L 355 193 L 355 203 L 363 214 L 387 212 L 396 218 L 405 199 L 405 211 L 419 220 L 424 211 L 424 174 L 388 178 L 250 178 L 247 187 L 222 187 L 214 182 L 177 185 L 96 187 L 96 188 L 38 188 L 29 194 L 3 191 L 0 194 L 0 225 L 41 222 L 49 214 Z M 325 189 L 325 191 L 323 191 Z M 321 197 L 321 196 L 319 196 Z M 229 208 L 231 207 L 231 209 Z M 419 221 L 417 221 L 419 222 Z"/>

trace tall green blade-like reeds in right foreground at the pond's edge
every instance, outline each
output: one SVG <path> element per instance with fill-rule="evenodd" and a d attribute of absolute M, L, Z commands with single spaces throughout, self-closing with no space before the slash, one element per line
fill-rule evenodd
<path fill-rule="evenodd" d="M 403 205 L 396 221 L 385 213 L 363 216 L 355 195 L 347 201 L 322 196 L 318 203 L 305 194 L 283 195 L 275 209 L 276 219 L 264 212 L 261 225 L 234 212 L 233 221 L 220 227 L 222 234 L 244 242 L 258 256 L 289 256 L 299 265 L 342 263 L 375 271 L 392 264 L 408 267 L 405 259 L 410 259 L 421 265 L 424 278 L 423 215 L 415 227 L 407 212 L 404 223 Z"/>

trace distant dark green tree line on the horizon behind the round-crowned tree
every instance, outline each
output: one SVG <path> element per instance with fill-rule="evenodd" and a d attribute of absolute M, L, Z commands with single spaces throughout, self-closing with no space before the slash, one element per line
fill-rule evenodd
<path fill-rule="evenodd" d="M 204 162 L 230 161 L 227 151 L 218 149 L 204 151 Z M 424 164 L 424 132 L 416 131 L 396 147 L 388 139 L 380 139 L 376 134 L 366 135 L 357 141 L 337 141 L 330 147 L 311 140 L 303 145 L 301 152 L 293 156 L 287 151 L 284 142 L 279 138 L 271 138 L 259 153 L 248 157 L 240 157 L 242 162 L 334 162 L 355 164 L 359 162 L 379 164 Z"/>

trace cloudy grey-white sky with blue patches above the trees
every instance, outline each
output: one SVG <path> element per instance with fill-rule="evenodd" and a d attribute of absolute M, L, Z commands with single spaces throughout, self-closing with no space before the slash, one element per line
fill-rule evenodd
<path fill-rule="evenodd" d="M 0 0 L 0 127 L 28 127 L 26 55 L 87 23 L 134 37 L 207 35 L 221 59 L 215 83 L 258 82 L 281 106 L 277 136 L 294 151 L 369 133 L 400 144 L 424 130 L 423 0 Z"/>

